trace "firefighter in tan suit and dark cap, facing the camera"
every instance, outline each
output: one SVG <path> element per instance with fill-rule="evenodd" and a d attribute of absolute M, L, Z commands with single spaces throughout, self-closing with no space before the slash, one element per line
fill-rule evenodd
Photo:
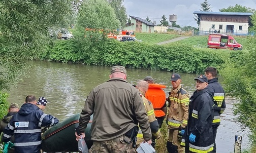
<path fill-rule="evenodd" d="M 169 129 L 167 150 L 169 153 L 184 152 L 184 147 L 180 146 L 181 130 L 185 129 L 188 117 L 189 96 L 181 87 L 181 78 L 178 73 L 171 75 L 172 89 L 168 97 L 168 114 L 166 121 Z"/>

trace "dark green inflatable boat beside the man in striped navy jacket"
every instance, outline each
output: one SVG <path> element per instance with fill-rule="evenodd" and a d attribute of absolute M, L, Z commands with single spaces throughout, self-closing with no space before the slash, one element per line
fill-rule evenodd
<path fill-rule="evenodd" d="M 75 136 L 75 128 L 78 126 L 80 113 L 74 114 L 68 119 L 52 126 L 42 134 L 42 150 L 44 152 L 78 152 L 78 143 Z M 90 148 L 92 116 L 85 132 L 85 142 Z"/>

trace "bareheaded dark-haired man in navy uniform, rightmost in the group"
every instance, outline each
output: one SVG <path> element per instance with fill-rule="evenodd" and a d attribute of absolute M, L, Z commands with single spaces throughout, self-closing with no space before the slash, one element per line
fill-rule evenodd
<path fill-rule="evenodd" d="M 215 67 L 207 67 L 205 69 L 205 76 L 208 79 L 208 90 L 213 96 L 214 100 L 214 118 L 212 121 L 212 130 L 213 130 L 213 139 L 214 139 L 214 147 L 213 152 L 216 152 L 216 134 L 218 126 L 220 125 L 220 114 L 226 109 L 225 103 L 225 92 L 221 85 L 218 83 L 217 70 Z"/>

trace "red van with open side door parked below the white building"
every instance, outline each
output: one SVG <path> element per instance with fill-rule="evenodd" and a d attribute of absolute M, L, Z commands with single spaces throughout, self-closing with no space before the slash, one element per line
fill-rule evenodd
<path fill-rule="evenodd" d="M 238 44 L 231 35 L 221 33 L 209 33 L 208 48 L 242 50 L 243 46 Z"/>

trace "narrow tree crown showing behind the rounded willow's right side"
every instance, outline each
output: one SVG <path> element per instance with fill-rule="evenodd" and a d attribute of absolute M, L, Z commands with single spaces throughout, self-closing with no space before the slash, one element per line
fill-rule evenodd
<path fill-rule="evenodd" d="M 124 7 L 123 0 L 107 0 L 112 8 L 115 10 L 116 18 L 120 21 L 121 27 L 123 28 L 126 24 L 127 14 Z"/>

